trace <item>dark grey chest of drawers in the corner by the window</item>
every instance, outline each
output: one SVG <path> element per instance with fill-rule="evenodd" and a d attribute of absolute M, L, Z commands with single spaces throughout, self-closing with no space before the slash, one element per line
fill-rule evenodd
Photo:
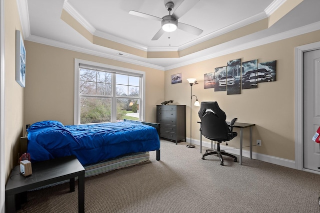
<path fill-rule="evenodd" d="M 156 105 L 156 123 L 160 124 L 160 137 L 180 142 L 185 136 L 185 105 Z"/>

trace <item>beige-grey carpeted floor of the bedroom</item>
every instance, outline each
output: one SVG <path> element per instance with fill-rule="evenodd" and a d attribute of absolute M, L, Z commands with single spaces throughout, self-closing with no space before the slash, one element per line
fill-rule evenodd
<path fill-rule="evenodd" d="M 242 164 L 161 140 L 161 161 L 85 179 L 86 213 L 318 213 L 320 176 L 248 158 Z M 76 213 L 77 186 L 28 192 L 17 213 Z"/>

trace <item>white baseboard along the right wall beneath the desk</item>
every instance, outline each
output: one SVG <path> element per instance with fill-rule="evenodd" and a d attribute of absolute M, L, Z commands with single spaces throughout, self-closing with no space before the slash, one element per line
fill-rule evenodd
<path fill-rule="evenodd" d="M 187 141 L 190 142 L 190 139 L 187 139 Z M 200 141 L 192 139 L 192 144 L 200 146 Z M 211 148 L 211 142 L 202 140 L 202 153 L 204 153 L 205 149 L 207 148 L 209 149 Z M 214 148 L 214 143 L 213 143 L 213 148 Z M 232 149 L 233 147 L 224 146 L 224 145 L 220 145 L 220 148 L 221 150 L 227 150 L 227 152 L 230 154 L 239 155 L 240 153 L 240 150 L 238 148 Z M 250 151 L 242 150 L 242 157 L 250 158 Z M 295 169 L 295 161 L 284 159 L 284 158 L 278 158 L 270 155 L 264 155 L 264 154 L 252 152 L 252 159 Z"/>

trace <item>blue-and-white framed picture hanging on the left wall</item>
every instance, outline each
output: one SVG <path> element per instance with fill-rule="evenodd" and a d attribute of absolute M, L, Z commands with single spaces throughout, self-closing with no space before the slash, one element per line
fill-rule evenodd
<path fill-rule="evenodd" d="M 25 87 L 25 48 L 19 30 L 15 30 L 15 80 Z"/>

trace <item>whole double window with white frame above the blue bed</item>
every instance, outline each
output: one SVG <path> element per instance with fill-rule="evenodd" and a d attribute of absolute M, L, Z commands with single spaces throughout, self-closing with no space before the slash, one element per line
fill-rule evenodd
<path fill-rule="evenodd" d="M 144 117 L 144 72 L 75 59 L 74 124 Z"/>

